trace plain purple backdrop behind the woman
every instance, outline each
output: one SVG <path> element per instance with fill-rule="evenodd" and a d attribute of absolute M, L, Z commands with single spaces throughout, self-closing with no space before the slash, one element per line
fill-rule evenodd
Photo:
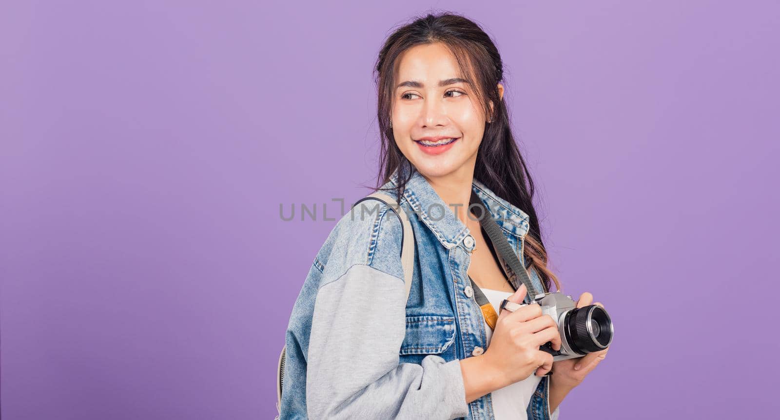
<path fill-rule="evenodd" d="M 564 418 L 780 408 L 775 2 L 108 3 L 0 6 L 4 418 L 272 418 L 378 48 L 428 7 L 497 41 L 553 268 L 615 319 Z"/>

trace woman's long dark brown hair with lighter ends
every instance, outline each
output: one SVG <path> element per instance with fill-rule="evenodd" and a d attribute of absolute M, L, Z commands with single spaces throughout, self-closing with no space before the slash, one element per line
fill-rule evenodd
<path fill-rule="evenodd" d="M 405 169 L 402 173 L 406 173 L 407 177 L 399 180 L 395 190 L 400 198 L 409 176 L 417 170 L 395 144 L 390 126 L 395 86 L 393 78 L 402 52 L 416 45 L 436 42 L 445 44 L 456 57 L 463 77 L 476 88 L 477 103 L 484 107 L 485 115 L 491 120 L 491 123 L 486 123 L 484 137 L 477 151 L 474 178 L 530 216 L 530 230 L 525 238 L 523 254 L 526 261 L 530 260 L 537 269 L 547 290 L 550 290 L 551 279 L 560 290 L 558 278 L 547 268 L 548 255 L 532 202 L 534 181 L 512 136 L 505 102 L 499 97 L 497 85 L 504 78 L 501 55 L 488 34 L 472 20 L 452 13 L 429 13 L 395 30 L 382 46 L 374 67 L 381 137 L 380 167 L 375 190 L 387 183 L 396 169 Z M 490 102 L 495 104 L 492 113 Z"/>

